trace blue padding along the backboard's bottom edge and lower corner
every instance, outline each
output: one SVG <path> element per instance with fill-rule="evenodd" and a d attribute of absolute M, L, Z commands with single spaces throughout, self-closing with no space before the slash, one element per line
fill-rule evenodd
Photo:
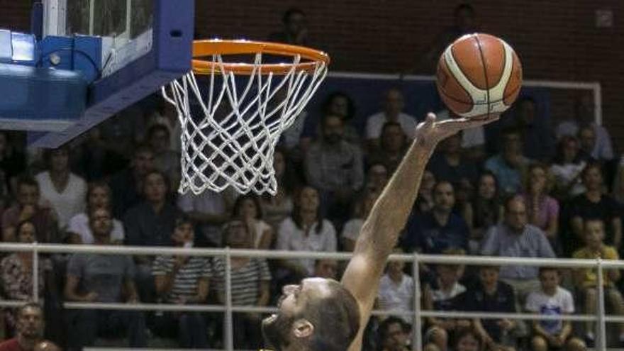
<path fill-rule="evenodd" d="M 189 72 L 194 10 L 194 0 L 154 0 L 152 50 L 94 82 L 78 123 L 61 133 L 28 133 L 30 145 L 58 147 Z"/>

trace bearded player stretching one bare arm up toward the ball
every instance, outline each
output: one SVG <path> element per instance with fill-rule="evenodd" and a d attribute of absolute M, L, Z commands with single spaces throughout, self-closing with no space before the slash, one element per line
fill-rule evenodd
<path fill-rule="evenodd" d="M 425 166 L 440 140 L 498 116 L 435 122 L 430 113 L 396 173 L 362 225 L 341 282 L 308 278 L 284 286 L 278 312 L 262 321 L 264 339 L 276 351 L 355 351 L 379 290 L 379 279 L 418 194 Z M 314 235 L 309 233 L 308 235 Z"/>

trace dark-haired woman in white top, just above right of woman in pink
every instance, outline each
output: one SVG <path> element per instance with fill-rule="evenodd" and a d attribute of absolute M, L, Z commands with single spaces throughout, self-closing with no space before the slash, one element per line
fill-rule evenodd
<path fill-rule="evenodd" d="M 566 135 L 559 140 L 557 155 L 550 166 L 550 172 L 555 177 L 555 196 L 559 200 L 567 200 L 584 191 L 581 183 L 581 172 L 586 162 L 579 155 L 579 140 Z"/>

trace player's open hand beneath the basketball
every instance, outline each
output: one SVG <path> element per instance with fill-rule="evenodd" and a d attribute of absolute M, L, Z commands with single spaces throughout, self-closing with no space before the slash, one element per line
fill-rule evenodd
<path fill-rule="evenodd" d="M 459 130 L 483 126 L 498 120 L 498 114 L 475 116 L 472 118 L 455 118 L 436 121 L 435 113 L 428 113 L 427 118 L 416 126 L 416 140 L 420 145 L 433 148 L 440 141 L 454 135 Z"/>

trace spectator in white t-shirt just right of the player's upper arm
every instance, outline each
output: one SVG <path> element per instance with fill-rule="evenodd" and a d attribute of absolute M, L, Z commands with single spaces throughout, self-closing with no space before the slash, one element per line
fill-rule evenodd
<path fill-rule="evenodd" d="M 394 253 L 403 251 L 396 249 Z M 377 306 L 381 311 L 402 312 L 411 311 L 414 301 L 414 279 L 403 273 L 405 262 L 389 261 L 386 264 L 386 274 L 379 280 L 379 294 Z M 410 316 L 401 316 L 405 323 L 411 323 Z"/>

